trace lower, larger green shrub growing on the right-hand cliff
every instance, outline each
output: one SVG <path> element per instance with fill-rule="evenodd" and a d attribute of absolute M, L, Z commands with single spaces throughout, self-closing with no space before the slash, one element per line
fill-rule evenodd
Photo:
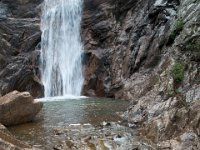
<path fill-rule="evenodd" d="M 184 79 L 185 65 L 182 63 L 175 63 L 172 67 L 172 77 L 176 83 L 181 83 Z"/>

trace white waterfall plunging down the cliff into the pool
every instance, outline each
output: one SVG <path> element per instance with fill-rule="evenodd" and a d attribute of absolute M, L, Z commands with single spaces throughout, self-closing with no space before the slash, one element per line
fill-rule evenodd
<path fill-rule="evenodd" d="M 81 94 L 82 0 L 45 0 L 41 19 L 41 76 L 45 97 Z"/>

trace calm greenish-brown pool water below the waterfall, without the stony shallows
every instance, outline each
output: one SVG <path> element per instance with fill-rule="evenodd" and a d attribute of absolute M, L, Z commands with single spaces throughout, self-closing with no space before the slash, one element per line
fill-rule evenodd
<path fill-rule="evenodd" d="M 116 112 L 125 111 L 129 104 L 127 101 L 103 98 L 57 98 L 43 103 L 43 109 L 34 122 L 9 128 L 19 140 L 39 147 L 54 144 L 54 130 L 69 124 L 98 125 L 103 121 L 120 121 Z"/>

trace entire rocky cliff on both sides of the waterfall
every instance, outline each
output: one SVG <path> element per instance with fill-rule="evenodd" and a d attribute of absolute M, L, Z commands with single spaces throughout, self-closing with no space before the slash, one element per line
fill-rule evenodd
<path fill-rule="evenodd" d="M 0 1 L 1 95 L 14 89 L 42 93 L 41 1 Z M 200 149 L 200 2 L 84 4 L 83 93 L 131 100 L 123 117 L 160 149 Z"/>

